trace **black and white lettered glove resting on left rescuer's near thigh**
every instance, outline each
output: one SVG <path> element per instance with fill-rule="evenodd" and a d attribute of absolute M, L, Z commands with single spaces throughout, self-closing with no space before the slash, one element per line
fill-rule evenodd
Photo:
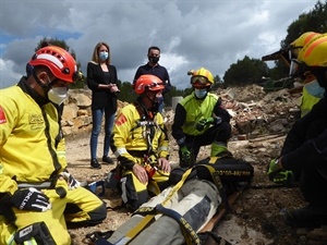
<path fill-rule="evenodd" d="M 9 203 L 21 210 L 44 212 L 51 209 L 49 198 L 33 187 L 16 191 Z"/>

